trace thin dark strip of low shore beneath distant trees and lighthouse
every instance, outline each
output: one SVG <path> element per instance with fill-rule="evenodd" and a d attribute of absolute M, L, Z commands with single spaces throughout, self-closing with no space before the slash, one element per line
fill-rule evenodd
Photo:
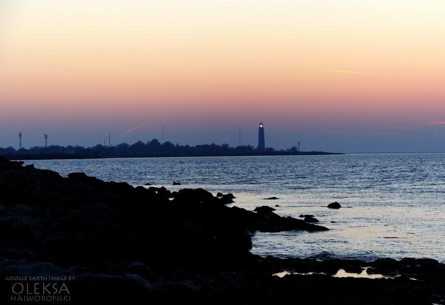
<path fill-rule="evenodd" d="M 255 151 L 252 154 L 151 154 L 151 155 L 78 155 L 78 154 L 36 154 L 36 155 L 5 155 L 9 160 L 66 160 L 66 159 L 114 159 L 114 158 L 180 158 L 180 157 L 249 157 L 249 156 L 320 156 L 344 155 L 327 151 L 276 151 L 262 154 Z"/>

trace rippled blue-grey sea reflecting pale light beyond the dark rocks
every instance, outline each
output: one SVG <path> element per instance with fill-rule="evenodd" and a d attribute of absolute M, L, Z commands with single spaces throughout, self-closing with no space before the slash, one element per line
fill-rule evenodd
<path fill-rule="evenodd" d="M 249 210 L 312 214 L 327 232 L 257 233 L 260 255 L 371 260 L 430 257 L 445 262 L 445 154 L 135 158 L 26 161 L 62 175 L 83 171 L 134 186 L 233 193 Z M 172 186 L 180 181 L 182 186 Z M 276 196 L 279 200 L 263 200 Z M 338 201 L 345 208 L 329 209 Z M 331 223 L 334 221 L 335 223 Z M 397 237 L 397 238 L 388 238 Z"/>

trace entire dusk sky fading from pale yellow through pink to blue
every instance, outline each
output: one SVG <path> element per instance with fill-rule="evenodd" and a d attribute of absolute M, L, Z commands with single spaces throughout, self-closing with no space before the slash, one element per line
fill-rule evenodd
<path fill-rule="evenodd" d="M 0 147 L 445 151 L 443 0 L 0 0 Z"/>

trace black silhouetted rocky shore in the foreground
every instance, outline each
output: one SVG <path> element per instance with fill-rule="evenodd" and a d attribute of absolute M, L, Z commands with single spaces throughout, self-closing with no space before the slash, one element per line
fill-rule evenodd
<path fill-rule="evenodd" d="M 232 200 L 203 189 L 172 193 L 84 173 L 61 177 L 0 157 L 0 300 L 21 295 L 12 286 L 23 277 L 30 284 L 68 277 L 74 302 L 445 302 L 445 265 L 432 259 L 253 255 L 256 231 L 328 228 L 280 217 L 260 203 L 256 212 L 226 206 Z M 333 277 L 365 267 L 387 277 Z M 282 271 L 290 274 L 274 276 Z"/>

